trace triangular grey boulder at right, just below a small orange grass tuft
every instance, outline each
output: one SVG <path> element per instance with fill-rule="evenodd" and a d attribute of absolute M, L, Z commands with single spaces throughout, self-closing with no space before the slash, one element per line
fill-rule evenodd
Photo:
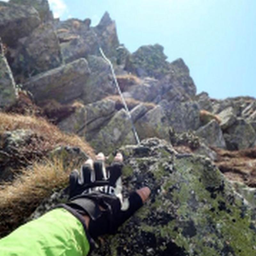
<path fill-rule="evenodd" d="M 196 135 L 204 138 L 204 141 L 212 147 L 226 148 L 226 143 L 220 128 L 220 125 L 212 120 L 208 124 L 200 127 L 196 131 Z"/>

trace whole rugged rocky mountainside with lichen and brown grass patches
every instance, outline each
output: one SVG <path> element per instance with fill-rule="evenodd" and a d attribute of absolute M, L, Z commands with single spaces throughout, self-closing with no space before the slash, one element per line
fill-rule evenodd
<path fill-rule="evenodd" d="M 125 188 L 153 193 L 94 255 L 256 255 L 254 98 L 197 94 L 182 59 L 168 62 L 159 44 L 130 53 L 107 12 L 92 27 L 90 19 L 53 19 L 46 0 L 0 1 L 0 37 L 1 235 L 65 186 L 70 159 L 75 166 L 93 156 L 90 147 L 111 158 L 119 148 Z M 45 171 L 47 182 L 38 175 L 32 188 L 20 185 L 38 164 L 56 161 L 59 182 Z M 6 196 L 19 187 L 26 197 Z"/>

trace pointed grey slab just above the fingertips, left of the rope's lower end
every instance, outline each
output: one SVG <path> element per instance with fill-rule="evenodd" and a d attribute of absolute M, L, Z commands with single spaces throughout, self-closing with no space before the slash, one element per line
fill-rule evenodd
<path fill-rule="evenodd" d="M 126 138 L 132 131 L 132 123 L 124 109 L 119 110 L 103 128 L 89 141 L 98 152 L 111 153 L 125 143 L 135 144 L 134 137 Z"/>

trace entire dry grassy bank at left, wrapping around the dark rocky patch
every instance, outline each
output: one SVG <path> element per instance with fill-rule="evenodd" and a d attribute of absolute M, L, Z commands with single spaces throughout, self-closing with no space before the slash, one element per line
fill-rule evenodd
<path fill-rule="evenodd" d="M 69 145 L 81 148 L 92 158 L 95 154 L 81 138 L 62 133 L 41 117 L 0 112 L 0 120 L 0 133 L 17 129 L 30 129 L 35 133 L 28 145 L 13 150 L 11 158 L 16 162 L 17 159 L 20 161 L 20 156 L 25 155 L 23 160 L 29 162 L 20 165 L 19 175 L 12 183 L 2 183 L 0 186 L 1 237 L 22 224 L 56 188 L 63 188 L 67 184 L 69 173 L 77 164 L 76 159 L 64 164 L 61 157 L 47 158 L 50 150 Z"/>

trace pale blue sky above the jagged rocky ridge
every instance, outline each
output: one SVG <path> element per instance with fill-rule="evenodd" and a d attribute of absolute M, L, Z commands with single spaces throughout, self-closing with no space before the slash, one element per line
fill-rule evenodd
<path fill-rule="evenodd" d="M 256 0 L 49 0 L 56 16 L 90 18 L 105 11 L 131 51 L 159 43 L 182 58 L 197 92 L 212 98 L 256 97 Z"/>

